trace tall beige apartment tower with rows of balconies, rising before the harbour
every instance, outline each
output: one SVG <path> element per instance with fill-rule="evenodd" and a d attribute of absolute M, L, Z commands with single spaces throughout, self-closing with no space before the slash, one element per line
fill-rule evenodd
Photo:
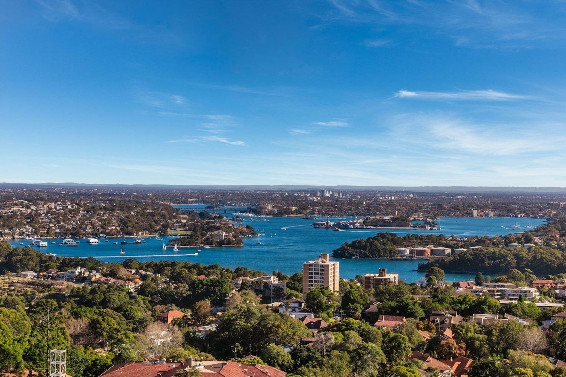
<path fill-rule="evenodd" d="M 331 262 L 329 254 L 320 254 L 314 261 L 303 263 L 303 298 L 309 289 L 328 287 L 338 292 L 338 262 Z"/>

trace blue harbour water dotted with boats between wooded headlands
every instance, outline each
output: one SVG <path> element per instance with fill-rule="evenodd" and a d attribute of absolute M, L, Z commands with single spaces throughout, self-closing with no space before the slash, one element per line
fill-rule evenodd
<path fill-rule="evenodd" d="M 191 205 L 192 207 L 203 205 Z M 187 208 L 189 205 L 175 206 Z M 245 208 L 245 207 L 243 207 Z M 231 216 L 226 214 L 226 216 Z M 164 259 L 175 259 L 180 261 L 199 262 L 203 265 L 219 263 L 221 266 L 235 268 L 245 266 L 264 272 L 279 270 L 284 274 L 293 274 L 301 271 L 302 263 L 318 257 L 320 253 L 331 253 L 344 242 L 359 238 L 374 236 L 377 232 L 392 232 L 392 229 L 352 229 L 340 232 L 331 229 L 315 229 L 311 227 L 313 220 L 303 220 L 300 217 L 269 217 L 265 220 L 256 219 L 246 221 L 243 224 L 251 224 L 258 232 L 265 236 L 260 237 L 263 245 L 258 245 L 257 237 L 244 239 L 244 246 L 200 249 L 199 255 L 186 255 L 196 252 L 196 248 L 180 248 L 178 252 L 168 248 L 161 251 L 163 242 L 167 244 L 170 238 L 164 241 L 154 238 L 145 238 L 147 244 L 124 245 L 126 254 L 119 255 L 121 245 L 113 242 L 122 239 L 108 239 L 98 245 L 88 245 L 86 240 L 80 240 L 78 247 L 58 246 L 49 244 L 48 248 L 41 248 L 42 252 L 57 253 L 62 257 L 88 257 L 92 256 L 104 261 L 122 261 L 126 258 L 135 257 L 139 261 L 160 261 Z M 443 218 L 438 220 L 441 231 L 423 231 L 422 229 L 403 229 L 396 232 L 398 235 L 406 234 L 444 234 L 446 236 L 495 236 L 505 235 L 511 232 L 525 230 L 524 227 L 531 224 L 538 226 L 544 223 L 544 219 L 525 218 Z M 509 229 L 501 228 L 503 226 Z M 510 228 L 512 224 L 518 223 L 522 229 Z M 285 230 L 283 229 L 285 228 Z M 130 237 L 130 240 L 132 238 Z M 29 244 L 29 241 L 11 241 L 12 245 L 19 242 Z M 388 259 L 338 259 L 340 262 L 340 276 L 350 279 L 355 275 L 364 275 L 368 272 L 377 272 L 378 268 L 387 268 L 388 271 L 398 272 L 400 279 L 409 283 L 423 278 L 422 272 L 415 271 L 418 261 L 390 261 Z M 468 274 L 446 274 L 449 281 L 465 280 L 473 278 Z"/>

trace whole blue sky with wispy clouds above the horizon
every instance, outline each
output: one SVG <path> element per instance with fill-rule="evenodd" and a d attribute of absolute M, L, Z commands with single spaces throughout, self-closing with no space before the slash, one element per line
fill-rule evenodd
<path fill-rule="evenodd" d="M 563 0 L 0 7 L 0 181 L 566 186 Z"/>

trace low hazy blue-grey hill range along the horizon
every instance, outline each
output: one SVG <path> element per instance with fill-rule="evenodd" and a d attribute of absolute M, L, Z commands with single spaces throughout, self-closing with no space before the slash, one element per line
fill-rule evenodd
<path fill-rule="evenodd" d="M 97 183 L 0 183 L 0 188 L 109 188 L 137 190 L 331 190 L 384 192 L 449 192 L 449 193 L 566 193 L 565 187 L 489 187 L 489 186 L 325 186 L 325 185 L 145 185 Z"/>

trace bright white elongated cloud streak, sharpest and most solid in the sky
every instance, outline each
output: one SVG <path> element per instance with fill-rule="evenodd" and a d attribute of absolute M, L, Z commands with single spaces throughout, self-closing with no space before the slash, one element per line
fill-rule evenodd
<path fill-rule="evenodd" d="M 393 95 L 396 98 L 416 99 L 471 99 L 479 101 L 512 101 L 515 99 L 529 99 L 532 97 L 520 94 L 498 92 L 496 90 L 460 90 L 458 92 L 411 92 L 399 90 Z"/>

